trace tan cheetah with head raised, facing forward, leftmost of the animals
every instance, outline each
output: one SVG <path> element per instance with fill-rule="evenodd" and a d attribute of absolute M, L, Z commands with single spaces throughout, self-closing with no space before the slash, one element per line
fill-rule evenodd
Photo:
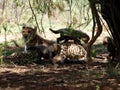
<path fill-rule="evenodd" d="M 23 26 L 22 27 L 22 36 L 23 39 L 25 41 L 25 48 L 24 48 L 24 52 L 27 52 L 27 48 L 28 47 L 32 47 L 32 46 L 37 46 L 37 45 L 45 45 L 45 46 L 49 46 L 52 45 L 53 43 L 55 43 L 54 41 L 50 41 L 47 39 L 42 38 L 41 36 L 39 36 L 37 34 L 37 28 L 32 28 L 32 27 L 26 27 Z"/>

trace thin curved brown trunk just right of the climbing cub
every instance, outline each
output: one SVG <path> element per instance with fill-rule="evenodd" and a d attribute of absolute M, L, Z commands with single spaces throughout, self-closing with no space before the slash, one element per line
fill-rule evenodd
<path fill-rule="evenodd" d="M 94 25 L 93 25 L 93 35 L 92 35 L 92 39 L 89 41 L 88 46 L 87 46 L 87 59 L 88 59 L 88 66 L 91 65 L 92 62 L 92 58 L 91 58 L 91 47 L 94 44 L 94 42 L 96 41 L 96 39 L 100 36 L 100 34 L 102 33 L 102 25 L 100 22 L 100 18 L 98 15 L 98 12 L 96 10 L 95 7 L 95 2 L 93 0 L 89 0 L 90 2 L 90 7 L 91 7 L 91 11 L 92 11 L 92 15 L 93 15 L 93 21 L 94 21 Z M 97 24 L 97 31 L 96 34 L 94 35 L 94 29 L 95 29 L 95 25 Z"/>

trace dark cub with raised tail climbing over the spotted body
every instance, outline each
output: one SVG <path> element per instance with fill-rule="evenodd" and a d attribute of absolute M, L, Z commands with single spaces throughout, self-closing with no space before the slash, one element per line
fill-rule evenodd
<path fill-rule="evenodd" d="M 72 28 L 62 28 L 58 30 L 53 30 L 50 28 L 49 30 L 55 34 L 60 34 L 60 37 L 57 38 L 57 43 L 60 43 L 62 40 L 64 40 L 64 42 L 67 42 L 68 40 L 74 40 L 75 43 L 81 44 L 80 40 L 82 40 L 84 43 L 88 43 L 90 39 L 86 33 Z"/>

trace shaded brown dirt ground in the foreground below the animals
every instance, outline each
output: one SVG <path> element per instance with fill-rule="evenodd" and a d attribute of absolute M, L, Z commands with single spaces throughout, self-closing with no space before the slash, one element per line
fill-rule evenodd
<path fill-rule="evenodd" d="M 2 63 L 0 90 L 120 90 L 119 63 L 104 62 L 106 59 L 101 55 L 106 54 L 99 54 L 101 58 L 95 58 L 90 69 L 85 62 L 78 61 L 59 64 L 57 68 L 48 61 L 39 65 Z"/>

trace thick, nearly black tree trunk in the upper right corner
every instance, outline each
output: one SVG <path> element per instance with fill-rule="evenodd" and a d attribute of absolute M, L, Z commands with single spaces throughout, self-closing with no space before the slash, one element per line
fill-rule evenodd
<path fill-rule="evenodd" d="M 118 58 L 120 59 L 120 1 L 119 0 L 100 0 L 101 14 L 109 26 L 117 48 Z"/>

